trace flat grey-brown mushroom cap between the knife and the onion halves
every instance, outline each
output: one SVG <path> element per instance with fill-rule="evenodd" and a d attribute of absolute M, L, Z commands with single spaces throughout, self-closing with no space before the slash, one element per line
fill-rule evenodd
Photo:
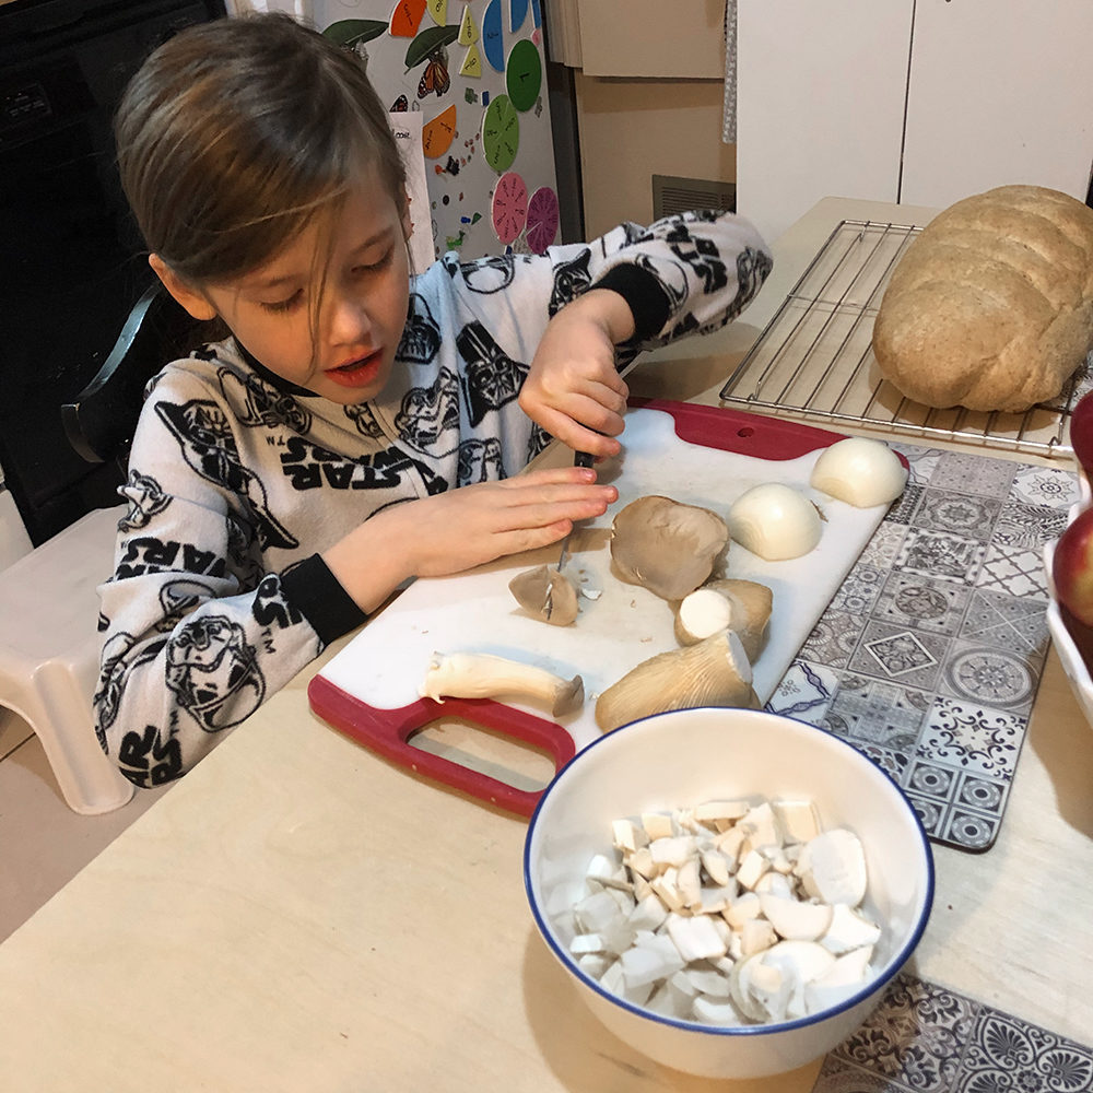
<path fill-rule="evenodd" d="M 611 557 L 623 580 L 678 600 L 709 577 L 729 539 L 716 513 L 649 494 L 631 502 L 613 522 Z"/>

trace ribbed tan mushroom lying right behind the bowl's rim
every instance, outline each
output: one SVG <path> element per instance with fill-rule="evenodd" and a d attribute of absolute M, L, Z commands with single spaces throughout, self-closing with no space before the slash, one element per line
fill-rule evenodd
<path fill-rule="evenodd" d="M 694 706 L 750 706 L 759 701 L 740 638 L 725 630 L 713 637 L 657 654 L 612 683 L 596 702 L 596 724 L 604 732 L 622 725 Z"/>

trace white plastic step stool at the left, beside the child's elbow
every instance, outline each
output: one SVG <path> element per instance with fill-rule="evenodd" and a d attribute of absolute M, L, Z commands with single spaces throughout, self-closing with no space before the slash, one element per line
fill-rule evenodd
<path fill-rule="evenodd" d="M 98 596 L 114 567 L 125 506 L 96 509 L 0 572 L 0 706 L 42 741 L 64 801 L 97 815 L 133 786 L 95 739 Z"/>

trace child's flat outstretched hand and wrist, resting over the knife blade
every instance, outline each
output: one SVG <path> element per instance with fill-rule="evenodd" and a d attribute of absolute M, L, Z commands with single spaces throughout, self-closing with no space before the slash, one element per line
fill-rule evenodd
<path fill-rule="evenodd" d="M 575 520 L 602 516 L 619 497 L 591 468 L 532 471 L 410 501 L 377 513 L 324 551 L 364 611 L 409 577 L 443 577 L 559 542 Z"/>

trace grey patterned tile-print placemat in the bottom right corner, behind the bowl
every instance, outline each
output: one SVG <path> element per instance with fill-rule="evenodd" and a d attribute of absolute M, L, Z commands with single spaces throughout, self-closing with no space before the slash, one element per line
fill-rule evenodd
<path fill-rule="evenodd" d="M 912 975 L 823 1061 L 812 1093 L 1089 1093 L 1093 1048 Z"/>

